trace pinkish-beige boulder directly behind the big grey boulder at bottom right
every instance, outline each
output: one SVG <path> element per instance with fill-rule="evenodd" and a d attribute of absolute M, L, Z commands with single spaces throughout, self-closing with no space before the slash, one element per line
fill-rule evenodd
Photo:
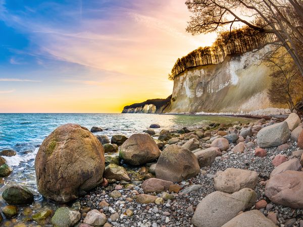
<path fill-rule="evenodd" d="M 240 168 L 227 168 L 218 171 L 214 177 L 214 186 L 217 191 L 233 193 L 243 188 L 254 189 L 258 184 L 256 171 Z"/>

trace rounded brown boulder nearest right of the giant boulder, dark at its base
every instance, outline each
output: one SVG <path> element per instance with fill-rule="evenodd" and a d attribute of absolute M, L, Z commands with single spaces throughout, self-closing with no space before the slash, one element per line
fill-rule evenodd
<path fill-rule="evenodd" d="M 130 136 L 121 146 L 119 156 L 126 164 L 142 165 L 156 160 L 160 150 L 153 138 L 146 133 Z"/>

